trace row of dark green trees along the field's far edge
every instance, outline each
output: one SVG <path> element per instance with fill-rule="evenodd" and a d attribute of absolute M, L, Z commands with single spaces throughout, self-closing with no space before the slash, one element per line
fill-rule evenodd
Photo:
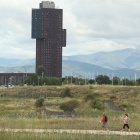
<path fill-rule="evenodd" d="M 133 80 L 128 78 L 119 78 L 117 76 L 109 77 L 107 75 L 98 75 L 94 79 L 85 79 L 82 77 L 66 76 L 63 78 L 45 77 L 38 74 L 32 74 L 24 81 L 27 85 L 42 86 L 42 85 L 62 85 L 62 84 L 98 84 L 98 85 L 140 85 L 140 79 Z"/>

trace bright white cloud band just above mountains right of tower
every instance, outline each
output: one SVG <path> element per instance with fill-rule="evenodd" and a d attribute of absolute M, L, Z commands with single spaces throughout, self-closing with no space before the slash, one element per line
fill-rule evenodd
<path fill-rule="evenodd" d="M 121 44 L 117 42 L 113 42 L 107 39 L 96 39 L 91 42 L 85 42 L 83 46 L 83 42 L 78 44 L 73 44 L 73 50 L 71 51 L 70 46 L 67 49 L 64 48 L 65 54 L 69 55 L 78 55 L 78 54 L 92 54 L 99 51 L 114 51 L 126 48 L 136 48 L 134 45 L 131 44 Z M 78 53 L 77 53 L 78 52 Z"/>

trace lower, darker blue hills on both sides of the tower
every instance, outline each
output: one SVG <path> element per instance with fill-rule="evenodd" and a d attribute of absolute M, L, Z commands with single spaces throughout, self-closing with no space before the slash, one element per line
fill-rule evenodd
<path fill-rule="evenodd" d="M 103 68 L 97 65 L 76 62 L 76 61 L 63 61 L 63 76 L 82 76 L 83 78 L 94 78 L 99 74 L 112 76 L 119 76 L 121 78 L 131 78 L 134 79 L 135 74 L 137 77 L 140 77 L 140 70 L 132 70 L 132 69 L 118 69 L 111 70 L 108 68 Z M 17 66 L 17 67 L 1 67 L 0 72 L 35 72 L 35 65 L 25 65 L 25 66 Z"/>

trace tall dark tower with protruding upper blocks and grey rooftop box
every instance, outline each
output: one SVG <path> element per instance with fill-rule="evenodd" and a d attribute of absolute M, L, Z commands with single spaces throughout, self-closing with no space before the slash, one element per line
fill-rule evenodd
<path fill-rule="evenodd" d="M 32 38 L 36 38 L 36 72 L 40 67 L 47 77 L 62 77 L 62 47 L 66 46 L 63 10 L 54 2 L 42 1 L 32 9 Z"/>

